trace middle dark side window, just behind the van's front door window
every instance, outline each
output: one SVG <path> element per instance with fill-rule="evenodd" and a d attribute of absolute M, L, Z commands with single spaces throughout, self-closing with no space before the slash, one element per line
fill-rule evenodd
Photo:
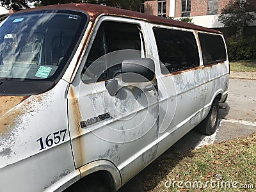
<path fill-rule="evenodd" d="M 189 31 L 154 28 L 162 74 L 199 66 L 195 35 Z"/>

